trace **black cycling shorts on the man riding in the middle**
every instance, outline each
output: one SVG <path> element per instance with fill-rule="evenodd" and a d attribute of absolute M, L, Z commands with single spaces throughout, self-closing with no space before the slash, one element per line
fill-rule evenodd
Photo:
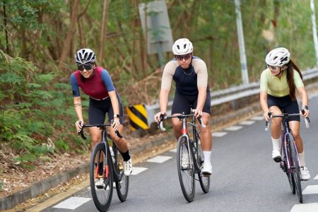
<path fill-rule="evenodd" d="M 172 103 L 171 114 L 190 114 L 190 109 L 196 109 L 196 104 L 198 102 L 198 96 L 186 96 L 179 93 L 175 93 L 175 98 Z M 210 92 L 206 92 L 206 103 L 202 112 L 211 114 L 211 95 Z"/>

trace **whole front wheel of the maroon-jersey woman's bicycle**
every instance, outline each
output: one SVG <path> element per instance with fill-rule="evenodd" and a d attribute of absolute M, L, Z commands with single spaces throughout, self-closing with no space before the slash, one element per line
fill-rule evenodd
<path fill-rule="evenodd" d="M 108 160 L 108 163 L 106 163 Z M 112 166 L 105 144 L 96 144 L 90 158 L 90 191 L 98 211 L 107 211 L 112 201 Z"/>

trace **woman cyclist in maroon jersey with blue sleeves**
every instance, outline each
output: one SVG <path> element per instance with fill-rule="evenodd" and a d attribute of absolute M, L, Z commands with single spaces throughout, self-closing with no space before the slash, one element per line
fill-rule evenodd
<path fill-rule="evenodd" d="M 119 152 L 124 158 L 124 175 L 128 176 L 132 171 L 131 156 L 129 148 L 124 138 L 119 138 L 114 131 L 118 130 L 122 134 L 123 130 L 123 109 L 122 101 L 114 88 L 112 79 L 108 71 L 95 62 L 95 53 L 91 49 L 79 49 L 75 54 L 77 70 L 71 74 L 71 88 L 73 91 L 73 102 L 78 121 L 75 122 L 76 130 L 81 131 L 84 124 L 81 95 L 83 93 L 90 96 L 88 108 L 88 120 L 90 124 L 104 124 L 105 115 L 108 113 L 109 120 L 113 120 L 110 130 L 110 137 L 119 148 Z M 98 127 L 90 127 L 92 138 L 92 150 L 101 141 L 101 131 Z"/>

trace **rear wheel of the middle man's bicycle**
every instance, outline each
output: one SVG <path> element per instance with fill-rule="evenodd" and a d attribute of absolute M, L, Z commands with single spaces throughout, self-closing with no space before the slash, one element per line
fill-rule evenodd
<path fill-rule="evenodd" d="M 199 172 L 198 172 L 198 177 L 199 177 L 199 182 L 201 189 L 204 193 L 208 193 L 210 189 L 210 175 L 204 176 L 201 174 L 201 168 L 204 163 L 204 153 L 201 148 L 201 142 L 199 139 L 199 136 L 196 136 L 196 141 L 198 141 L 198 146 L 197 146 L 197 153 L 196 153 L 196 163 L 198 164 L 199 167 Z"/>

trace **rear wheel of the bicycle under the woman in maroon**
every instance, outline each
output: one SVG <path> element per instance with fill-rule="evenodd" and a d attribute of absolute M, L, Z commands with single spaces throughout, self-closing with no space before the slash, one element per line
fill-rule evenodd
<path fill-rule="evenodd" d="M 119 181 L 116 181 L 117 196 L 120 201 L 126 201 L 129 190 L 129 176 L 124 175 L 124 158 L 119 153 L 117 146 L 112 146 L 114 151 L 114 175 L 118 176 Z"/>

